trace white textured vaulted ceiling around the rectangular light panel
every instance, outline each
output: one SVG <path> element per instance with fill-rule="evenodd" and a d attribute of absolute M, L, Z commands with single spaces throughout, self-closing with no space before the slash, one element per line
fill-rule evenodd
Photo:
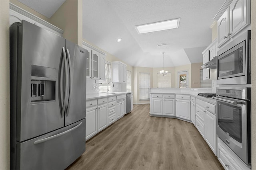
<path fill-rule="evenodd" d="M 18 0 L 50 18 L 64 0 Z M 132 66 L 202 62 L 210 25 L 225 0 L 83 0 L 83 38 Z M 180 18 L 178 29 L 139 35 L 134 28 Z M 118 43 L 116 40 L 122 38 Z M 157 44 L 167 43 L 158 47 Z"/>

